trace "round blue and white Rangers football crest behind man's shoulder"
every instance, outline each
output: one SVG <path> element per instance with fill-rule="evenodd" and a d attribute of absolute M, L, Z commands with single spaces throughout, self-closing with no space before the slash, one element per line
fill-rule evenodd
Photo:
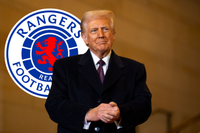
<path fill-rule="evenodd" d="M 5 63 L 22 90 L 46 99 L 54 62 L 87 49 L 77 17 L 58 9 L 42 9 L 24 16 L 12 28 L 6 41 Z"/>

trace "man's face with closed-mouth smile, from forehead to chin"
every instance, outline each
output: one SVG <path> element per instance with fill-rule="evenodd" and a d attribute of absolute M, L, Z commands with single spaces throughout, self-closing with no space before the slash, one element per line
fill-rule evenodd
<path fill-rule="evenodd" d="M 106 56 L 111 50 L 115 35 L 109 20 L 98 18 L 87 23 L 86 33 L 82 37 L 94 54 Z"/>

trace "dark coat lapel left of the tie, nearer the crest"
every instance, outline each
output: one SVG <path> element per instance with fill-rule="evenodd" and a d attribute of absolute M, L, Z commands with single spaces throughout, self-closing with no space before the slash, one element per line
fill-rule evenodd
<path fill-rule="evenodd" d="M 90 50 L 81 56 L 78 64 L 80 65 L 79 72 L 85 77 L 89 84 L 100 94 L 102 84 L 99 79 L 98 72 L 94 66 Z"/>

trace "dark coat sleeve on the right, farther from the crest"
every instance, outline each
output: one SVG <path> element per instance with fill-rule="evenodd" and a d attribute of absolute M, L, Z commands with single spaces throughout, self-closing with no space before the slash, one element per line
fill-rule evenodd
<path fill-rule="evenodd" d="M 143 64 L 140 64 L 135 74 L 134 96 L 133 100 L 119 105 L 122 116 L 121 125 L 124 128 L 137 126 L 145 122 L 151 114 L 151 93 L 146 85 L 146 70 Z"/>

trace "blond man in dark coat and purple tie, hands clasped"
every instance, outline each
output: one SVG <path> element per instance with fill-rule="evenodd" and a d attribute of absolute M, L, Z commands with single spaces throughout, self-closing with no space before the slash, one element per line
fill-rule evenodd
<path fill-rule="evenodd" d="M 86 12 L 83 55 L 57 60 L 46 100 L 58 133 L 135 133 L 151 114 L 151 93 L 143 64 L 111 49 L 115 39 L 113 13 Z"/>

